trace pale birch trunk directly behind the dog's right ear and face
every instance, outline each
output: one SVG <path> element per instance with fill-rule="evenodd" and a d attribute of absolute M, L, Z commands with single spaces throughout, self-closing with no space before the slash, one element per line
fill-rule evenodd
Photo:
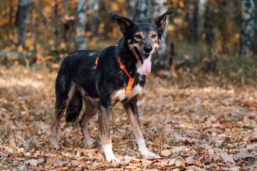
<path fill-rule="evenodd" d="M 155 19 L 156 17 L 164 14 L 167 10 L 168 7 L 165 6 L 167 3 L 166 0 L 154 0 L 153 1 L 153 12 L 152 12 L 152 20 Z M 157 50 L 157 54 L 155 59 L 153 60 L 153 72 L 156 72 L 160 69 L 167 69 L 168 68 L 168 62 L 171 61 L 168 58 L 167 54 L 167 38 L 168 38 L 168 25 L 169 25 L 169 20 L 166 20 L 166 29 L 163 32 L 162 38 L 161 38 L 161 44 L 159 46 L 159 49 Z"/>

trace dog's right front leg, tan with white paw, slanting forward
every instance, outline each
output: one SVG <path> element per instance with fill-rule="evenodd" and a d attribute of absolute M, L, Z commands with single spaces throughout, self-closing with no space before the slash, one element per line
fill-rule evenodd
<path fill-rule="evenodd" d="M 126 111 L 127 117 L 130 120 L 131 126 L 133 128 L 136 142 L 138 143 L 139 152 L 145 157 L 154 157 L 155 153 L 148 151 L 144 139 L 143 132 L 141 130 L 137 100 L 131 100 L 129 102 L 123 102 L 124 109 Z"/>

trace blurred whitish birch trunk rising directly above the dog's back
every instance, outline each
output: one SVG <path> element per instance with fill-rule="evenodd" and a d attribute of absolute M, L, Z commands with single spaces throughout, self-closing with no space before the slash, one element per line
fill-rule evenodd
<path fill-rule="evenodd" d="M 77 13 L 78 13 L 78 26 L 76 29 L 76 47 L 77 49 L 86 49 L 86 0 L 79 0 Z"/>

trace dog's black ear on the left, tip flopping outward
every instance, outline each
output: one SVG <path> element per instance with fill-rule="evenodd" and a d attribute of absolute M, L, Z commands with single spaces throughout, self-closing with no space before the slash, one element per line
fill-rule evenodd
<path fill-rule="evenodd" d="M 117 14 L 114 14 L 111 16 L 112 20 L 117 20 L 117 23 L 120 27 L 121 33 L 125 36 L 126 33 L 130 31 L 130 29 L 135 25 L 134 22 L 126 17 L 119 16 Z"/>

